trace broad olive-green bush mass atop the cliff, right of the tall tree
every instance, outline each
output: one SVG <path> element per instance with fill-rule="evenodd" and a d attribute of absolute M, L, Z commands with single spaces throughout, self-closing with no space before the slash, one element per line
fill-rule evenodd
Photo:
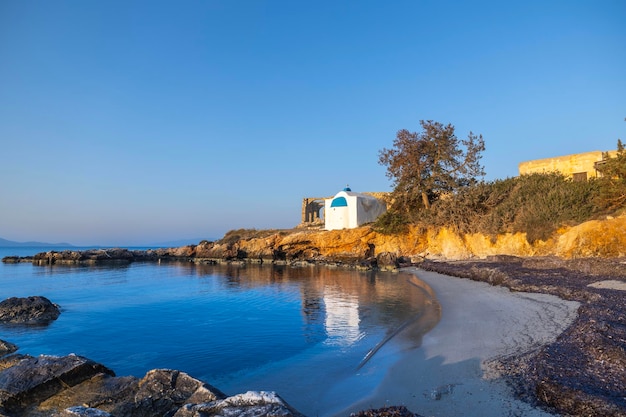
<path fill-rule="evenodd" d="M 423 226 L 492 237 L 525 232 L 534 242 L 546 240 L 563 225 L 593 217 L 599 212 L 600 190 L 597 180 L 577 182 L 558 173 L 522 175 L 461 188 L 442 196 L 430 210 L 416 209 L 404 216 L 391 211 L 380 226 L 392 231 L 401 220 L 411 219 Z"/>

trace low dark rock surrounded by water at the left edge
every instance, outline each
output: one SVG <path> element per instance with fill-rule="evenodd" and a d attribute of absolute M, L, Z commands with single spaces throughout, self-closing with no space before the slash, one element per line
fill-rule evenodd
<path fill-rule="evenodd" d="M 0 323 L 48 324 L 61 312 L 46 297 L 12 297 L 0 302 Z"/>

